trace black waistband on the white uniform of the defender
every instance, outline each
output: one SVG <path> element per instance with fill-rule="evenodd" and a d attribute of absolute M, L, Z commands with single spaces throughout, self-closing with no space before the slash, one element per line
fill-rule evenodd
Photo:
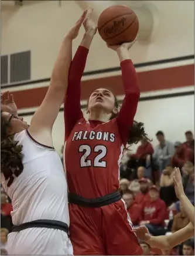
<path fill-rule="evenodd" d="M 62 230 L 69 234 L 69 226 L 62 221 L 57 220 L 34 220 L 20 225 L 14 225 L 12 227 L 12 232 L 19 232 L 21 230 L 26 230 L 26 228 L 53 228 L 54 230 Z"/>

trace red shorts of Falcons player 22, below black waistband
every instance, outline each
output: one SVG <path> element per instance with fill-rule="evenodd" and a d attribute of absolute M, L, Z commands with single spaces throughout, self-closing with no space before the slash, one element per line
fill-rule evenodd
<path fill-rule="evenodd" d="M 74 255 L 142 255 L 125 203 L 99 208 L 69 205 Z"/>

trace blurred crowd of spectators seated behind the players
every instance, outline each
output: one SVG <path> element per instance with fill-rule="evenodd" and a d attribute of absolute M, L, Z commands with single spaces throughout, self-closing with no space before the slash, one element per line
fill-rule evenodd
<path fill-rule="evenodd" d="M 152 235 L 169 235 L 189 223 L 173 182 L 174 167 L 179 167 L 184 191 L 194 205 L 194 137 L 191 131 L 185 136 L 186 142 L 174 143 L 167 141 L 165 134 L 159 131 L 155 148 L 143 138 L 135 154 L 126 149 L 122 157 L 121 196 L 134 226 L 146 225 Z M 1 255 L 6 255 L 6 242 L 12 228 L 11 211 L 11 200 L 1 186 Z M 194 255 L 193 237 L 169 251 L 139 242 L 143 255 Z"/>

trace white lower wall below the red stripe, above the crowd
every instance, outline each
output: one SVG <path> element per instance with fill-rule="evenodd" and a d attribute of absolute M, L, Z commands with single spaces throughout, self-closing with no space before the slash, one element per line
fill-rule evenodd
<path fill-rule="evenodd" d="M 30 123 L 32 116 L 24 118 Z M 194 131 L 194 95 L 139 102 L 135 120 L 145 123 L 145 130 L 153 139 L 154 146 L 158 143 L 155 137 L 158 130 L 162 130 L 166 139 L 173 143 L 178 140 L 184 142 L 186 130 Z M 63 142 L 64 117 L 60 112 L 53 127 L 53 143 L 59 153 Z M 132 150 L 136 147 L 134 145 Z"/>

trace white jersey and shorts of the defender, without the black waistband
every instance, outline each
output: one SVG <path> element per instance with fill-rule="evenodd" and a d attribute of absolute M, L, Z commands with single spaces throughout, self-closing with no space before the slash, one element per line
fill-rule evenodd
<path fill-rule="evenodd" d="M 53 147 L 36 142 L 26 130 L 15 134 L 14 140 L 23 146 L 23 172 L 14 178 L 10 187 L 6 186 L 8 181 L 5 181 L 4 175 L 1 174 L 2 186 L 12 200 L 13 225 L 33 220 L 57 220 L 69 225 L 67 181 L 59 155 Z M 36 239 L 39 242 L 38 245 L 35 242 Z M 28 228 L 19 233 L 9 234 L 8 248 L 11 248 L 11 251 L 8 250 L 8 253 L 15 255 L 66 254 L 66 250 L 57 249 L 56 246 L 63 247 L 64 244 L 66 247 L 67 239 L 67 234 L 61 230 Z M 49 240 L 57 244 L 54 245 L 52 242 L 49 246 Z M 25 241 L 26 250 L 24 250 Z M 60 241 L 63 241 L 63 244 L 60 244 Z M 12 245 L 9 246 L 10 242 Z M 14 250 L 13 247 L 15 247 Z"/>

